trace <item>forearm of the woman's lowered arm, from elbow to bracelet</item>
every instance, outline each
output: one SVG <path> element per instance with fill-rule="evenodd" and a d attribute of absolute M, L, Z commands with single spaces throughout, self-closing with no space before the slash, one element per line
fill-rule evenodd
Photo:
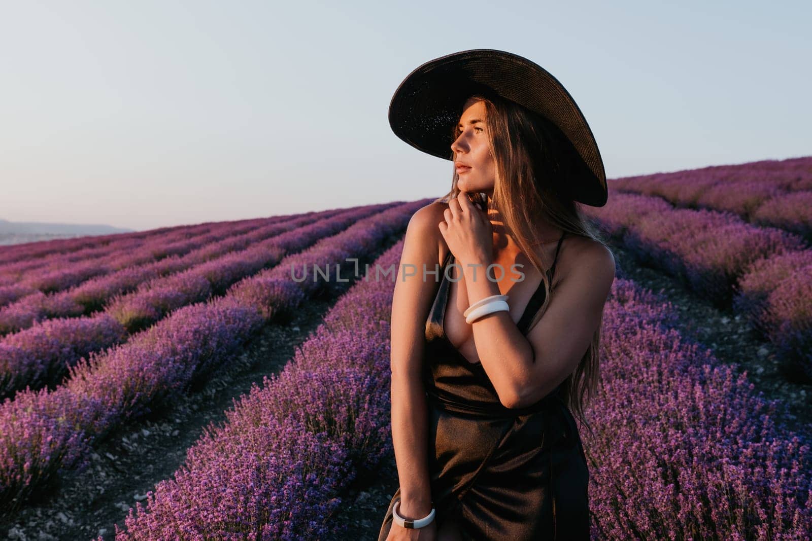
<path fill-rule="evenodd" d="M 400 479 L 400 513 L 425 517 L 431 511 L 428 457 L 428 408 L 420 380 L 392 373 L 392 444 Z"/>

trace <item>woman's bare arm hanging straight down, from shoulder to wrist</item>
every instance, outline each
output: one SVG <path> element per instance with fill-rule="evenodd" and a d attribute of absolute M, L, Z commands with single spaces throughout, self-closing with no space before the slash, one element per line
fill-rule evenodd
<path fill-rule="evenodd" d="M 429 204 L 409 221 L 401 255 L 391 312 L 392 443 L 400 478 L 400 513 L 425 517 L 431 510 L 431 486 L 426 457 L 427 404 L 421 380 L 425 320 L 437 288 L 440 239 L 437 230 L 442 208 Z M 413 266 L 412 266 L 413 265 Z M 413 274 L 406 276 L 405 274 Z"/>

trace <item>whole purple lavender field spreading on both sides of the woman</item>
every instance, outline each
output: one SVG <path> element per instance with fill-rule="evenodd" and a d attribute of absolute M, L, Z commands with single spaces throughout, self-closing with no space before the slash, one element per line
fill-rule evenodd
<path fill-rule="evenodd" d="M 809 193 L 799 158 L 615 179 L 589 211 L 619 264 L 581 431 L 593 539 L 810 538 L 810 211 L 771 203 Z M 374 269 L 429 202 L 0 248 L 0 536 L 377 539 Z"/>

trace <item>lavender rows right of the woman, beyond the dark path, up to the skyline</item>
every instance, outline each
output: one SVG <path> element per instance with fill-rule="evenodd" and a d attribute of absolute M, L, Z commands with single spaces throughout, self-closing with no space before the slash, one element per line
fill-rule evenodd
<path fill-rule="evenodd" d="M 613 243 L 741 315 L 788 380 L 812 383 L 812 157 L 622 178 L 610 191 L 588 213 Z M 758 218 L 776 198 L 783 218 Z"/>

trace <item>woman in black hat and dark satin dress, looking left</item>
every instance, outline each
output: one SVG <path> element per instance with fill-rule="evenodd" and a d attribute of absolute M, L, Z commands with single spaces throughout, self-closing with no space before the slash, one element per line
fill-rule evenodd
<path fill-rule="evenodd" d="M 552 75 L 493 49 L 412 71 L 390 123 L 455 174 L 404 242 L 417 272 L 392 299 L 400 488 L 378 539 L 589 539 L 572 411 L 590 428 L 615 277 L 577 209 L 607 199 L 592 132 Z M 439 286 L 423 273 L 438 268 Z"/>

